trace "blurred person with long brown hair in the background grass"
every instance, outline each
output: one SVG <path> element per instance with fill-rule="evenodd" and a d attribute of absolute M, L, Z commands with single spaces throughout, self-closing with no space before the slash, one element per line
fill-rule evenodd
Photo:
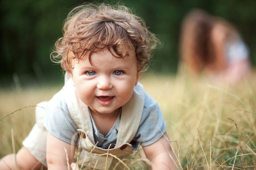
<path fill-rule="evenodd" d="M 235 84 L 250 72 L 249 49 L 227 21 L 203 10 L 189 12 L 182 23 L 181 63 L 212 83 Z"/>

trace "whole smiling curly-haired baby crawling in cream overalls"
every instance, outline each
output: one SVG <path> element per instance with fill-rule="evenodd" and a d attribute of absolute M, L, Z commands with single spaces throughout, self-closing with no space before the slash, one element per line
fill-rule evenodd
<path fill-rule="evenodd" d="M 78 159 L 78 166 L 111 169 L 115 156 L 141 145 L 153 170 L 178 169 L 161 109 L 138 82 L 158 42 L 124 6 L 71 10 L 52 54 L 66 71 L 64 87 L 38 104 L 18 167 L 65 170 Z M 2 158 L 0 168 L 14 169 L 14 155 Z"/>

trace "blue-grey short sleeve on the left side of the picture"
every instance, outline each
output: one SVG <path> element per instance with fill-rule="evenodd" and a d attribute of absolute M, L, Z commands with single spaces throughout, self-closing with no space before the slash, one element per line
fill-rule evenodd
<path fill-rule="evenodd" d="M 56 96 L 49 101 L 44 125 L 49 133 L 69 144 L 71 144 L 77 129 L 71 119 L 65 100 Z"/>

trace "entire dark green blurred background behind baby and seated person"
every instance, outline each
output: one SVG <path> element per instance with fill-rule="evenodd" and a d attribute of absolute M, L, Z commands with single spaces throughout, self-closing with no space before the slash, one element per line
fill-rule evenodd
<path fill-rule="evenodd" d="M 0 88 L 62 82 L 62 70 L 50 61 L 54 42 L 62 36 L 62 23 L 81 0 L 0 1 Z M 115 3 L 118 1 L 101 1 Z M 163 43 L 149 71 L 175 74 L 179 59 L 180 24 L 192 8 L 223 17 L 240 32 L 256 65 L 255 0 L 123 0 L 144 18 Z"/>

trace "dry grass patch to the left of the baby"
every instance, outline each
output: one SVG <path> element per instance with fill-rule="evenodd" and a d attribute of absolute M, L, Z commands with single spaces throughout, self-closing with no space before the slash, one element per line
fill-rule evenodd
<path fill-rule="evenodd" d="M 11 130 L 14 130 L 16 151 L 22 146 L 22 140 L 35 124 L 35 107 L 41 101 L 49 100 L 60 87 L 26 88 L 22 90 L 0 90 L 0 157 L 12 153 Z M 27 107 L 28 106 L 28 107 Z M 26 108 L 24 108 L 26 107 Z"/>

